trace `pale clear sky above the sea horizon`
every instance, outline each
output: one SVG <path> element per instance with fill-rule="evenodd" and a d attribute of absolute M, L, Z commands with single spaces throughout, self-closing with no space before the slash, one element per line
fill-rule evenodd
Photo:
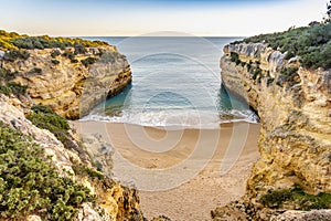
<path fill-rule="evenodd" d="M 327 0 L 0 0 L 0 29 L 49 35 L 248 36 L 321 21 Z"/>

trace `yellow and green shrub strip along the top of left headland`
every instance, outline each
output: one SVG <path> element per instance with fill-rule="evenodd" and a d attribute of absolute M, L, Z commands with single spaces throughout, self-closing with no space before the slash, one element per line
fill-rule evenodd
<path fill-rule="evenodd" d="M 19 49 L 65 49 L 67 46 L 85 48 L 85 46 L 103 46 L 108 43 L 103 41 L 87 41 L 79 38 L 51 38 L 47 35 L 42 36 L 28 36 L 21 35 L 15 32 L 6 32 L 0 30 L 0 48 L 3 50 L 19 50 Z"/>

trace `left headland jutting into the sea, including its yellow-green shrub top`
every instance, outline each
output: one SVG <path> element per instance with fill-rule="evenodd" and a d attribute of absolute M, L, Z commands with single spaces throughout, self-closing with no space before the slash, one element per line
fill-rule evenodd
<path fill-rule="evenodd" d="M 2 31 L 0 62 L 1 69 L 11 73 L 10 81 L 28 86 L 34 103 L 68 119 L 87 115 L 131 82 L 126 56 L 99 41 Z"/>

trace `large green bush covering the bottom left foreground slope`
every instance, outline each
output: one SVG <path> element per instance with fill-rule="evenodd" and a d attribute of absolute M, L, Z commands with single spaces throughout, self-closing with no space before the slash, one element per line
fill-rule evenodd
<path fill-rule="evenodd" d="M 60 177 L 43 149 L 0 122 L 0 218 L 73 220 L 79 204 L 94 201 L 89 190 Z"/>

